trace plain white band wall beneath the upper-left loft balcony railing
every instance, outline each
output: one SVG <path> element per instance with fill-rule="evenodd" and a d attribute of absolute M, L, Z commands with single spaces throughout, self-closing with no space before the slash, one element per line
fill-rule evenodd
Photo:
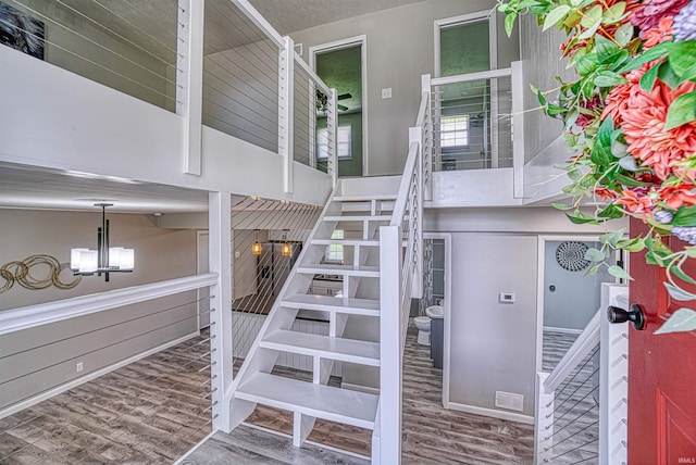
<path fill-rule="evenodd" d="M 182 117 L 8 47 L 0 68 L 13 109 L 0 112 L 2 162 L 312 204 L 331 191 L 326 174 L 296 163 L 284 193 L 282 156 L 206 126 L 202 174 L 186 175 Z"/>

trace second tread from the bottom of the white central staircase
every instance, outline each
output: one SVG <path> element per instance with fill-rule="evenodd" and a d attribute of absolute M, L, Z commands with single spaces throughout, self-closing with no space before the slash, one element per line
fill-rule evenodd
<path fill-rule="evenodd" d="M 341 362 L 380 366 L 380 344 L 371 341 L 278 329 L 263 338 L 261 347 L 303 355 L 320 355 Z"/>

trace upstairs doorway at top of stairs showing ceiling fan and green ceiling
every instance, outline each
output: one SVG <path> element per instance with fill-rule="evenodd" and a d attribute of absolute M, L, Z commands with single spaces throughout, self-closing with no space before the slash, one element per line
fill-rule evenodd
<path fill-rule="evenodd" d="M 338 176 L 362 176 L 366 165 L 365 37 L 311 47 L 310 63 L 338 99 Z M 326 115 L 316 115 L 316 165 L 326 166 Z"/>

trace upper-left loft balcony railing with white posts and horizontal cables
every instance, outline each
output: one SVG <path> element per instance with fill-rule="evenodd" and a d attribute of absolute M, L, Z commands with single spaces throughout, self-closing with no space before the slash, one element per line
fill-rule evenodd
<path fill-rule="evenodd" d="M 0 26 L 47 63 L 179 115 L 184 173 L 200 175 L 202 126 L 318 167 L 316 120 L 326 117 L 334 178 L 335 92 L 247 0 L 8 0 Z M 9 20 L 16 17 L 16 21 Z"/>

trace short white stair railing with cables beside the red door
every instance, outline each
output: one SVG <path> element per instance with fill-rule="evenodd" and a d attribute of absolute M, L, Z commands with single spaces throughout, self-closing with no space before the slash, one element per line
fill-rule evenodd
<path fill-rule="evenodd" d="M 606 317 L 609 305 L 626 307 L 626 292 L 602 285 L 583 332 L 550 374 L 537 373 L 535 463 L 626 463 L 627 327 Z"/>

